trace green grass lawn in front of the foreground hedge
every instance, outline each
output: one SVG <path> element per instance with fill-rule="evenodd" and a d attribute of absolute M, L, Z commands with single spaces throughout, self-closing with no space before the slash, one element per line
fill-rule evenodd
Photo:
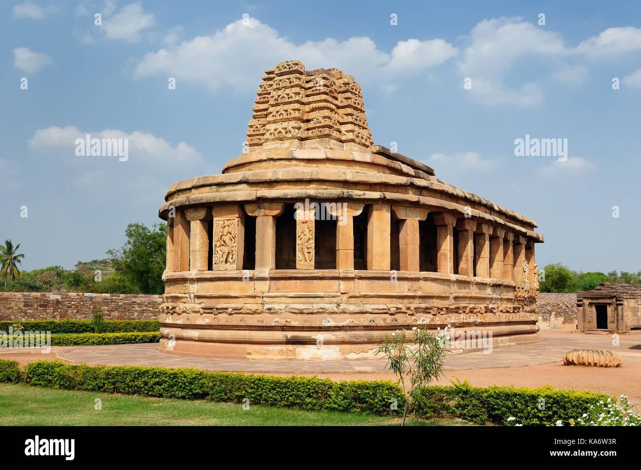
<path fill-rule="evenodd" d="M 96 398 L 102 410 L 95 410 Z M 1 426 L 387 426 L 398 419 L 370 414 L 283 408 L 45 389 L 0 384 Z M 456 426 L 454 421 L 409 421 L 411 426 Z"/>

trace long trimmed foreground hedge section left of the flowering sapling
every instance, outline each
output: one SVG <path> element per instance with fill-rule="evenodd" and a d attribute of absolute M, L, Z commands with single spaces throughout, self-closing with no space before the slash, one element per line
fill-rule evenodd
<path fill-rule="evenodd" d="M 163 367 L 68 365 L 31 362 L 22 380 L 29 385 L 63 390 L 139 394 L 160 398 L 370 412 L 389 415 L 393 399 L 404 403 L 402 390 L 390 381 L 333 382 L 316 377 L 276 377 Z M 402 409 L 402 406 L 399 407 Z"/>

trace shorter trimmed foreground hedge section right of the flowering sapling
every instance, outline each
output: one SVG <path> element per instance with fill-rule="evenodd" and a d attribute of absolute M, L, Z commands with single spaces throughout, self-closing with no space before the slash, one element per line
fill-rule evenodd
<path fill-rule="evenodd" d="M 591 405 L 607 401 L 608 395 L 583 390 L 515 387 L 472 387 L 467 380 L 453 386 L 429 386 L 413 402 L 412 412 L 431 419 L 454 415 L 476 424 L 507 424 L 508 418 L 524 426 L 568 425 L 587 413 Z M 543 409 L 540 409 L 543 408 Z"/>

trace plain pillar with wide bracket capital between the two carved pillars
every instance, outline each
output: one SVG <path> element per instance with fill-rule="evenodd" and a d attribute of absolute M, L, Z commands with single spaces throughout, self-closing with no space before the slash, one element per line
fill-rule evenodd
<path fill-rule="evenodd" d="M 252 203 L 245 212 L 256 217 L 256 267 L 254 277 L 269 277 L 276 268 L 276 217 L 283 214 L 285 203 Z"/>

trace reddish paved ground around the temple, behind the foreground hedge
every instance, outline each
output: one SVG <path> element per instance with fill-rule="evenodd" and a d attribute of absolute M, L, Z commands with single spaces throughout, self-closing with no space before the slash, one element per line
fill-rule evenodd
<path fill-rule="evenodd" d="M 279 376 L 291 374 L 329 377 L 334 380 L 394 379 L 385 369 L 385 360 L 351 361 L 258 361 L 188 358 L 156 351 L 157 344 L 118 346 L 56 346 L 51 353 L 25 353 L 4 349 L 0 358 L 21 364 L 58 358 L 72 364 L 147 365 L 160 367 L 196 367 L 210 371 L 240 371 Z M 563 353 L 570 349 L 614 349 L 623 358 L 615 368 L 562 365 Z M 581 389 L 619 396 L 626 394 L 633 403 L 641 403 L 641 332 L 620 335 L 619 346 L 612 345 L 611 335 L 587 335 L 569 330 L 542 330 L 540 342 L 449 355 L 445 375 L 438 383 L 468 380 L 472 385 L 514 385 Z"/>

